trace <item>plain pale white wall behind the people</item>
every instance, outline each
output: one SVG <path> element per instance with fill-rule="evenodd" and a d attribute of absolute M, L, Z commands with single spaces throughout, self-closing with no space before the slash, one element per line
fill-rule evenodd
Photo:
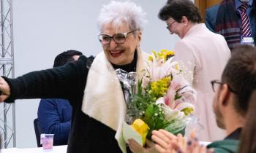
<path fill-rule="evenodd" d="M 97 55 L 102 50 L 97 40 L 97 15 L 102 4 L 109 1 L 13 0 L 15 76 L 51 68 L 55 56 L 65 50 Z M 135 2 L 147 13 L 142 49 L 173 49 L 178 37 L 171 36 L 157 17 L 166 0 Z M 33 120 L 37 118 L 39 99 L 15 103 L 17 147 L 36 147 Z"/>

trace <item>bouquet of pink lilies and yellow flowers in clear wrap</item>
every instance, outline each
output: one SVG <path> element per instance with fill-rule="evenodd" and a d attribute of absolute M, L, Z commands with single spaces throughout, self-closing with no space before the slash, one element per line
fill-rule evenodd
<path fill-rule="evenodd" d="M 135 74 L 119 77 L 127 101 L 126 122 L 140 133 L 142 144 L 151 138 L 152 130 L 184 134 L 186 119 L 195 110 L 196 92 L 184 78 L 184 66 L 173 61 L 173 56 L 170 50 L 153 51 L 137 84 Z M 124 73 L 117 70 L 117 74 Z M 127 137 L 125 131 L 123 134 Z"/>

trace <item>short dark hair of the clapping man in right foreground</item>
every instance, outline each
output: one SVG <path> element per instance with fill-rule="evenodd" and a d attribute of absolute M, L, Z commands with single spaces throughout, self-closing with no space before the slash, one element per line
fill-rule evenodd
<path fill-rule="evenodd" d="M 249 97 L 256 88 L 256 48 L 236 47 L 222 73 L 222 82 L 235 93 L 235 109 L 242 116 L 248 109 Z"/>

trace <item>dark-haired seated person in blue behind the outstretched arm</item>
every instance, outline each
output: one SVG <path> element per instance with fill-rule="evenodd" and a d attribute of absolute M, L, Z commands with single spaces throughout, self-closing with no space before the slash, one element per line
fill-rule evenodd
<path fill-rule="evenodd" d="M 82 52 L 68 50 L 57 55 L 53 68 L 78 60 Z M 66 145 L 71 128 L 72 106 L 66 99 L 41 99 L 37 111 L 41 133 L 54 134 L 53 145 Z"/>

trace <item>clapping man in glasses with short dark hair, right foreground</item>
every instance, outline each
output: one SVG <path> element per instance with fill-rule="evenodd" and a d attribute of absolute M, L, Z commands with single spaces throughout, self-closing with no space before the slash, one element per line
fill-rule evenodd
<path fill-rule="evenodd" d="M 225 130 L 225 138 L 208 144 L 207 149 L 214 149 L 215 153 L 235 153 L 246 122 L 249 98 L 256 89 L 256 48 L 244 45 L 234 49 L 221 80 L 211 81 L 211 86 L 214 91 L 212 108 L 217 125 Z M 181 138 L 177 140 L 165 130 L 154 130 L 151 138 L 160 153 L 192 152 L 191 149 L 198 145 L 192 144 L 195 140 L 186 140 L 186 145 L 178 143 Z"/>

